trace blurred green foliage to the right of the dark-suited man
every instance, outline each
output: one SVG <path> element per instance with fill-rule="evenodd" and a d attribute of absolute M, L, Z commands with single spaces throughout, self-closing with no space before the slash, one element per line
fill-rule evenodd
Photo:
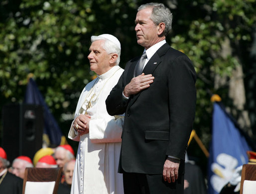
<path fill-rule="evenodd" d="M 198 77 L 194 129 L 208 148 L 211 139 L 211 94 L 220 95 L 224 104 L 232 106 L 228 97 L 228 82 L 216 88 L 215 77 L 218 75 L 228 81 L 236 66 L 246 67 L 250 58 L 251 36 L 256 27 L 256 2 L 181 0 L 172 12 L 171 46 L 187 54 L 194 63 Z M 229 45 L 230 49 L 225 45 Z M 200 149 L 192 145 L 188 152 L 199 157 L 201 165 L 205 166 L 207 161 Z"/>

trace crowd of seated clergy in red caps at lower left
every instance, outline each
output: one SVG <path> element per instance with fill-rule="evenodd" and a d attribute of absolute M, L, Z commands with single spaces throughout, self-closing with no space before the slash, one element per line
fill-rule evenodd
<path fill-rule="evenodd" d="M 33 158 L 21 155 L 12 162 L 8 160 L 8 153 L 0 147 L 0 193 L 22 194 L 26 168 L 63 167 L 58 194 L 70 194 L 75 162 L 74 150 L 70 145 L 41 148 Z"/>

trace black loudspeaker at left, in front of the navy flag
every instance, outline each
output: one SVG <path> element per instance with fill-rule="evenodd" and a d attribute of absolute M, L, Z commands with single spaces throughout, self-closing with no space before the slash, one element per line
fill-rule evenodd
<path fill-rule="evenodd" d="M 8 104 L 2 108 L 2 148 L 7 160 L 34 154 L 42 148 L 43 108 L 34 104 Z"/>

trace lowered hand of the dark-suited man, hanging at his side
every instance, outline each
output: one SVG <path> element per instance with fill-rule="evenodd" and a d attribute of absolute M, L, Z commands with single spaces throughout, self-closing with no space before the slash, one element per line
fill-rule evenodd
<path fill-rule="evenodd" d="M 163 165 L 163 180 L 168 183 L 178 179 L 180 160 L 168 157 Z"/>

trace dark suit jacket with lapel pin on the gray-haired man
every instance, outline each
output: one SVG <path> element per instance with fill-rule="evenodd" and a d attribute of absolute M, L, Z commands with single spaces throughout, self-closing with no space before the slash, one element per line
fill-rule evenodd
<path fill-rule="evenodd" d="M 106 100 L 110 115 L 126 113 L 119 170 L 162 174 L 164 162 L 171 155 L 181 159 L 179 172 L 183 172 L 196 104 L 192 62 L 182 52 L 164 44 L 143 70 L 145 75 L 154 76 L 153 83 L 127 100 L 123 91 L 133 78 L 137 60 L 127 63 Z"/>

